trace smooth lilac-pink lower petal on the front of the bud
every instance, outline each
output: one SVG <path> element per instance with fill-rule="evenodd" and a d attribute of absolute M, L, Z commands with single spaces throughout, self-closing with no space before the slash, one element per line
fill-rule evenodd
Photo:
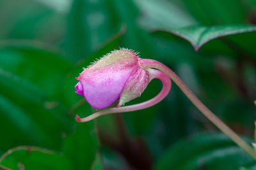
<path fill-rule="evenodd" d="M 80 80 L 88 103 L 101 109 L 117 101 L 133 68 L 127 66 L 89 70 Z"/>

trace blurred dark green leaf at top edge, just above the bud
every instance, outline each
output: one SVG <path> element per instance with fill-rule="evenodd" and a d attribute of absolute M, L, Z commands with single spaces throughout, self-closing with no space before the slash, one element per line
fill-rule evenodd
<path fill-rule="evenodd" d="M 122 23 L 118 22 L 113 1 L 99 0 L 97 3 L 75 0 L 68 17 L 68 34 L 65 46 L 74 59 L 82 59 L 113 34 Z"/>

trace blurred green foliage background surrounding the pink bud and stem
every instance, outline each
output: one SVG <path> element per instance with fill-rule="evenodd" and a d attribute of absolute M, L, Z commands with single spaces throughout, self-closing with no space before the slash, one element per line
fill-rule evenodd
<path fill-rule="evenodd" d="M 152 108 L 74 120 L 95 111 L 75 77 L 125 47 L 172 68 L 251 142 L 255 24 L 255 0 L 0 0 L 0 169 L 255 168 L 174 83 Z"/>

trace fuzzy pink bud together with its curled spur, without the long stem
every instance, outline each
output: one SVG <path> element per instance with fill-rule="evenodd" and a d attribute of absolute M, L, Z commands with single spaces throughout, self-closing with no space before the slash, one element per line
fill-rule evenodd
<path fill-rule="evenodd" d="M 84 69 L 77 78 L 77 94 L 83 95 L 91 106 L 98 109 L 106 108 L 115 101 L 119 103 L 116 108 L 108 108 L 85 118 L 76 116 L 77 122 L 87 122 L 109 113 L 141 110 L 159 103 L 169 93 L 172 82 L 162 71 L 150 69 L 157 63 L 154 60 L 141 59 L 131 50 L 122 49 L 105 55 Z M 154 78 L 163 82 L 163 89 L 156 97 L 143 103 L 122 106 L 139 97 Z"/>

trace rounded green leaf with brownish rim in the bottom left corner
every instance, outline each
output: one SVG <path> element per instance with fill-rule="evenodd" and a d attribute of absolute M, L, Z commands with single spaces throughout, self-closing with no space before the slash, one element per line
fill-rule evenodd
<path fill-rule="evenodd" d="M 35 146 L 18 146 L 0 157 L 0 167 L 18 169 L 72 169 L 70 161 L 61 153 Z"/>

